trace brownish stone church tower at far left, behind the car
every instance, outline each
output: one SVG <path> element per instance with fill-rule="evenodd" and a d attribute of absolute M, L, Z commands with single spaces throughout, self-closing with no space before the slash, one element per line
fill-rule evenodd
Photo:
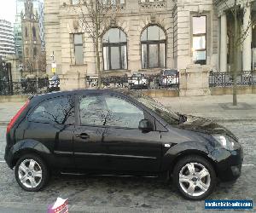
<path fill-rule="evenodd" d="M 26 0 L 25 13 L 21 13 L 23 41 L 23 75 L 39 75 L 41 39 L 39 36 L 38 14 L 34 14 L 32 0 Z"/>

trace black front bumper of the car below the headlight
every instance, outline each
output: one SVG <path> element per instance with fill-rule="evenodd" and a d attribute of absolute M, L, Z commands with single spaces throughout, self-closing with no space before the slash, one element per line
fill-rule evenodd
<path fill-rule="evenodd" d="M 215 169 L 220 181 L 235 181 L 241 176 L 242 147 L 234 151 L 217 148 L 213 150 L 211 155 L 215 159 Z"/>

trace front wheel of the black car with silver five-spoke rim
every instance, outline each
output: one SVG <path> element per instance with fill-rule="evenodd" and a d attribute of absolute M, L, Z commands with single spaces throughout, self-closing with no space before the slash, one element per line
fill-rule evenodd
<path fill-rule="evenodd" d="M 180 159 L 173 169 L 173 181 L 185 199 L 207 198 L 216 186 L 216 173 L 206 158 L 191 155 Z"/>

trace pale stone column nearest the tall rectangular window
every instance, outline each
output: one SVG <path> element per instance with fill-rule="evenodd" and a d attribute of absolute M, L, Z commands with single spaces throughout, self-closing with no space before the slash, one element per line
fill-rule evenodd
<path fill-rule="evenodd" d="M 220 17 L 220 63 L 219 71 L 227 72 L 227 16 Z"/>

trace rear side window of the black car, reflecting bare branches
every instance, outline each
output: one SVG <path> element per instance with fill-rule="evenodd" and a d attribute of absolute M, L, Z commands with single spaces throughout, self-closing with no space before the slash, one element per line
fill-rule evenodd
<path fill-rule="evenodd" d="M 44 101 L 29 116 L 29 121 L 47 124 L 74 124 L 71 96 Z"/>

